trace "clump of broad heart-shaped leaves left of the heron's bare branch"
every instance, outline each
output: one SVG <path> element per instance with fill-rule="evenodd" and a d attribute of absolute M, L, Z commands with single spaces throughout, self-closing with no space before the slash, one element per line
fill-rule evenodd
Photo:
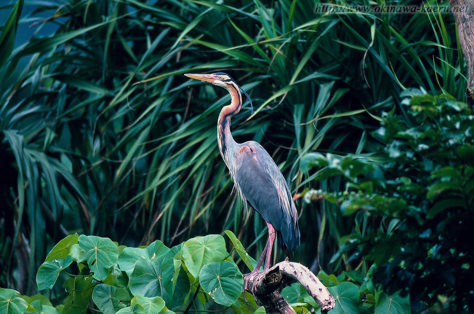
<path fill-rule="evenodd" d="M 234 234 L 228 234 L 242 259 L 252 266 L 255 261 Z M 53 307 L 45 297 L 19 296 L 14 290 L 2 289 L 0 307 L 17 304 L 7 314 L 81 314 L 88 311 L 92 300 L 104 314 L 170 314 L 190 297 L 193 301 L 197 297 L 201 306 L 212 299 L 238 307 L 243 285 L 242 274 L 220 235 L 191 238 L 171 248 L 159 240 L 146 247 L 125 247 L 109 238 L 70 235 L 40 266 L 38 289 L 53 289 L 64 275 L 69 276 L 63 284 L 67 292 L 64 304 Z M 253 306 L 255 311 L 258 306 Z"/>

